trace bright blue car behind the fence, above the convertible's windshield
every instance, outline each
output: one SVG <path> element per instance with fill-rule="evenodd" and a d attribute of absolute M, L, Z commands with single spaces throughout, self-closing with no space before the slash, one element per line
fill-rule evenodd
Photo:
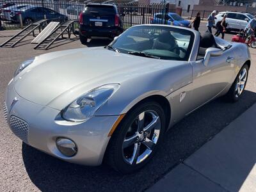
<path fill-rule="evenodd" d="M 150 20 L 151 24 L 168 24 L 173 26 L 188 27 L 190 22 L 183 19 L 177 13 L 169 12 L 164 18 L 164 13 L 155 13 L 153 18 Z"/>

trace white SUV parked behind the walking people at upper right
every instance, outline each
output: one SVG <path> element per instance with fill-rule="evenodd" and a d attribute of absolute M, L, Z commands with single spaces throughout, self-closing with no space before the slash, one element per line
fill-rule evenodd
<path fill-rule="evenodd" d="M 227 31 L 240 31 L 244 29 L 248 22 L 253 19 L 253 15 L 250 13 L 239 13 L 239 12 L 220 12 L 215 17 L 215 25 L 217 22 L 223 19 L 223 16 L 227 14 L 226 22 L 228 24 Z"/>

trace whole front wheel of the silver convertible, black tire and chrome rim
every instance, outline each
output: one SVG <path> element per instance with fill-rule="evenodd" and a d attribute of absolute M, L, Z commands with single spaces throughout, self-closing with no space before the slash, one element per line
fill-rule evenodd
<path fill-rule="evenodd" d="M 136 172 L 150 161 L 165 131 L 163 108 L 144 102 L 125 115 L 106 150 L 105 160 L 116 171 Z"/>

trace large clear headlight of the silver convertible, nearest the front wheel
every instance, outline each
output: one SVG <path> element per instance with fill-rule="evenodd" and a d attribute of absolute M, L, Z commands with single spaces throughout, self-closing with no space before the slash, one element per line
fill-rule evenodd
<path fill-rule="evenodd" d="M 72 122 L 89 120 L 119 87 L 120 84 L 105 84 L 82 95 L 61 111 L 62 118 Z"/>

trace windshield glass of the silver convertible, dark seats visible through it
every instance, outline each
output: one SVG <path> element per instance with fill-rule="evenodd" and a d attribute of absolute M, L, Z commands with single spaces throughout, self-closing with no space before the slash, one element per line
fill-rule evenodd
<path fill-rule="evenodd" d="M 187 60 L 190 35 L 168 30 L 132 31 L 113 45 L 126 51 L 140 51 L 166 60 Z"/>

